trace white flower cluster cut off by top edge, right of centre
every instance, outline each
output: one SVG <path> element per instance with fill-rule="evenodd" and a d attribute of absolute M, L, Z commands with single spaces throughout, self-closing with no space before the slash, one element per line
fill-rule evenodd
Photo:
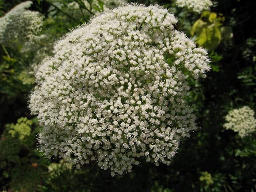
<path fill-rule="evenodd" d="M 203 10 L 209 10 L 212 6 L 211 0 L 176 0 L 178 7 L 186 7 L 193 12 L 201 13 Z"/>

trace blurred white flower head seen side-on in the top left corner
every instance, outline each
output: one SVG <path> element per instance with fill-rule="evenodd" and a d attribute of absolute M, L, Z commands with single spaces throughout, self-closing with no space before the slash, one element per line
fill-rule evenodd
<path fill-rule="evenodd" d="M 18 4 L 0 18 L 0 43 L 14 46 L 36 39 L 42 29 L 43 16 L 36 11 L 26 10 L 31 1 Z"/>

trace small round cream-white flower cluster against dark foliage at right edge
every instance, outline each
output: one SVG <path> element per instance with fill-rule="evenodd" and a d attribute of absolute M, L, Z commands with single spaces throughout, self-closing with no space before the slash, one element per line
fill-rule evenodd
<path fill-rule="evenodd" d="M 238 132 L 240 137 L 247 136 L 256 131 L 256 119 L 254 118 L 254 114 L 254 110 L 250 109 L 248 106 L 230 110 L 225 117 L 227 123 L 223 126 L 225 129 Z"/>

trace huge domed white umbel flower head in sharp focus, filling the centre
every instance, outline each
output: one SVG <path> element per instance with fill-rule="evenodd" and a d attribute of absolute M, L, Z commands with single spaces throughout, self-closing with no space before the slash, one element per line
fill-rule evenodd
<path fill-rule="evenodd" d="M 170 164 L 196 128 L 186 75 L 205 77 L 207 52 L 174 29 L 160 6 L 106 10 L 56 42 L 42 62 L 30 109 L 41 150 L 111 174 L 141 160 Z"/>

